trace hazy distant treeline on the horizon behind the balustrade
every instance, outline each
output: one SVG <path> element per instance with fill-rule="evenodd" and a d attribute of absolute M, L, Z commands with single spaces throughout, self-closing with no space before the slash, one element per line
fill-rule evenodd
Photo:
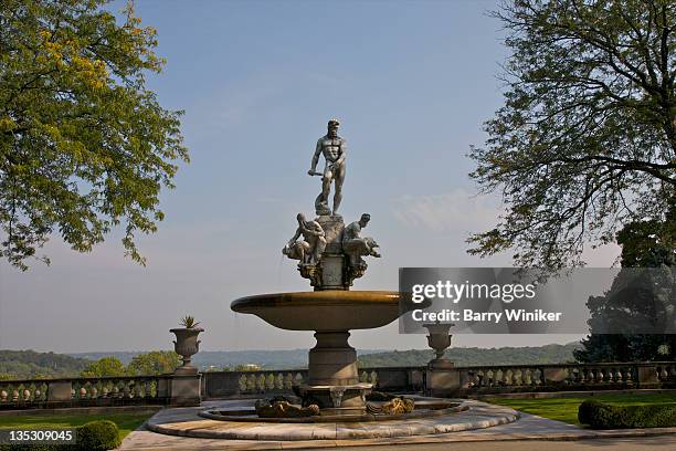
<path fill-rule="evenodd" d="M 451 348 L 446 357 L 457 366 L 531 365 L 574 361 L 572 352 L 579 343 L 531 347 Z M 77 377 L 85 368 L 104 357 L 116 357 L 128 365 L 141 352 L 54 354 L 34 350 L 0 350 L 0 379 Z M 358 365 L 423 366 L 434 358 L 431 349 L 358 352 Z M 193 357 L 201 370 L 241 369 L 256 365 L 262 369 L 307 368 L 307 349 L 201 352 Z"/>

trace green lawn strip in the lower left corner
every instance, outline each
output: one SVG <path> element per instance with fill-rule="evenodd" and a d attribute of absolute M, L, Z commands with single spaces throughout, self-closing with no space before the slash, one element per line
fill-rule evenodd
<path fill-rule="evenodd" d="M 0 417 L 0 428 L 68 428 L 95 420 L 110 420 L 117 424 L 120 439 L 124 439 L 151 416 L 148 412 L 17 415 Z"/>

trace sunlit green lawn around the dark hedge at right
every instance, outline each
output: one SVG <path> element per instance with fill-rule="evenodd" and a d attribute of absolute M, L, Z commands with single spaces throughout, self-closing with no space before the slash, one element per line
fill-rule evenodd
<path fill-rule="evenodd" d="M 537 415 L 551 420 L 563 421 L 569 424 L 580 426 L 578 422 L 578 407 L 585 399 L 598 399 L 622 406 L 635 406 L 646 403 L 675 402 L 676 394 L 667 395 L 595 395 L 593 397 L 578 398 L 540 398 L 540 399 L 506 399 L 489 398 L 486 402 L 511 407 L 526 413 Z"/>

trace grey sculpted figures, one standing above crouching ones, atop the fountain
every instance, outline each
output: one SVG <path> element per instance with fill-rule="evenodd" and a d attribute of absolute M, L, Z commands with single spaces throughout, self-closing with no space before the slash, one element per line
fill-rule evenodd
<path fill-rule="evenodd" d="M 318 290 L 324 286 L 321 263 L 325 255 L 330 254 L 332 259 L 338 256 L 341 261 L 345 261 L 345 269 L 341 272 L 344 289 L 348 289 L 356 277 L 363 275 L 367 263 L 362 256 L 380 256 L 380 253 L 376 251 L 378 248 L 376 240 L 361 237 L 362 229 L 367 227 L 371 219 L 370 214 L 363 213 L 358 221 L 351 222 L 345 228 L 342 218 L 337 214 L 342 200 L 347 157 L 346 140 L 338 136 L 339 125 L 338 119 L 328 122 L 327 134 L 317 140 L 310 169 L 307 171 L 310 176 L 321 177 L 321 192 L 315 200 L 317 219 L 307 220 L 303 213 L 298 213 L 296 216 L 298 222 L 296 232 L 282 250 L 284 255 L 299 261 L 298 270 L 300 274 L 310 279 L 313 286 Z M 318 172 L 316 169 L 320 156 L 324 156 L 325 167 L 323 171 Z M 331 182 L 335 188 L 332 210 L 328 207 Z M 327 226 L 327 223 L 335 224 L 337 222 L 339 223 L 339 234 L 327 233 L 321 226 L 323 223 Z M 327 251 L 327 244 L 331 245 L 329 251 Z M 341 255 L 345 255 L 345 258 Z"/>

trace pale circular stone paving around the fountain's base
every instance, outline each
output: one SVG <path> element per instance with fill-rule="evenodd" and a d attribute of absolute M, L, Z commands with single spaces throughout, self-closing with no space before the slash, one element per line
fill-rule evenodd
<path fill-rule="evenodd" d="M 336 440 L 429 436 L 490 428 L 516 421 L 519 413 L 501 406 L 458 400 L 466 410 L 429 418 L 406 418 L 369 422 L 270 423 L 211 420 L 201 410 L 249 407 L 254 400 L 209 402 L 201 409 L 163 409 L 146 422 L 154 432 L 230 440 Z"/>

